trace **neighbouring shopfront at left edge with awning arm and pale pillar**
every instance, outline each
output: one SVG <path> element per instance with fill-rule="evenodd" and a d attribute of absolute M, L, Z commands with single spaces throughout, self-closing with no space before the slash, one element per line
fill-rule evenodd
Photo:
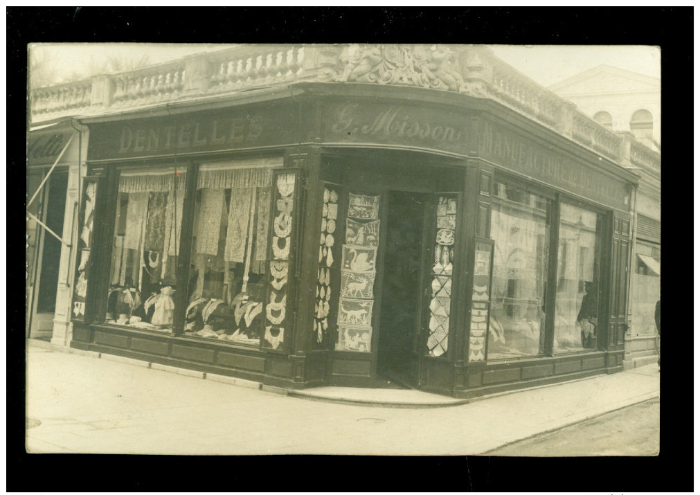
<path fill-rule="evenodd" d="M 68 345 L 72 266 L 87 136 L 70 119 L 38 125 L 27 145 L 27 337 Z"/>

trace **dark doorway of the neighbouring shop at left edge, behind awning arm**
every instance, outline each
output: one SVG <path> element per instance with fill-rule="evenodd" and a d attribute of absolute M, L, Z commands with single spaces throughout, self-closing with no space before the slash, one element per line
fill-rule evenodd
<path fill-rule="evenodd" d="M 66 190 L 68 173 L 55 171 L 51 174 L 43 191 L 44 223 L 57 234 L 63 232 L 66 209 Z M 61 242 L 46 232 L 44 228 L 36 229 L 38 256 L 36 257 L 36 274 L 34 281 L 32 312 L 29 322 L 29 337 L 49 339 L 53 331 L 53 319 L 56 311 L 59 265 L 61 263 Z"/>

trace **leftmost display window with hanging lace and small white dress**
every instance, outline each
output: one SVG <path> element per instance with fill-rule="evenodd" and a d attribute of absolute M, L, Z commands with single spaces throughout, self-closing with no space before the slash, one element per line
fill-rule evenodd
<path fill-rule="evenodd" d="M 172 330 L 184 178 L 174 168 L 120 174 L 106 323 Z"/>

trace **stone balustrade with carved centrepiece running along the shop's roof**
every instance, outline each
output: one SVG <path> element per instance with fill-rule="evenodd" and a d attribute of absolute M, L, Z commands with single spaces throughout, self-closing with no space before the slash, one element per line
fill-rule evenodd
<path fill-rule="evenodd" d="M 465 45 L 239 45 L 118 74 L 36 88 L 34 122 L 106 113 L 188 97 L 297 81 L 412 85 L 494 99 L 582 146 L 619 162 L 660 169 L 657 153 L 622 137 L 498 59 L 489 48 Z M 631 158 L 630 158 L 631 160 Z"/>

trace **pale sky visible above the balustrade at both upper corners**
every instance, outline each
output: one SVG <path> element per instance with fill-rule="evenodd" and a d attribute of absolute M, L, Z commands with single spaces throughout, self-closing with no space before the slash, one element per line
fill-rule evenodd
<path fill-rule="evenodd" d="M 48 43 L 36 50 L 48 50 L 52 59 L 65 67 L 66 75 L 80 72 L 93 60 L 108 55 L 138 60 L 148 55 L 151 64 L 218 50 L 231 45 L 156 43 Z M 544 86 L 580 74 L 601 64 L 661 78 L 661 51 L 654 46 L 516 46 L 490 45 L 493 53 Z"/>

